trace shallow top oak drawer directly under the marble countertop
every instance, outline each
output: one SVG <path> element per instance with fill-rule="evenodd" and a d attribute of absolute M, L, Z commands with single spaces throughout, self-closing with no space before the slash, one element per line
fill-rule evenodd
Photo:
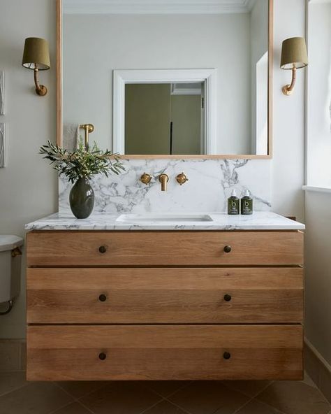
<path fill-rule="evenodd" d="M 301 231 L 32 231 L 28 266 L 302 264 Z"/>

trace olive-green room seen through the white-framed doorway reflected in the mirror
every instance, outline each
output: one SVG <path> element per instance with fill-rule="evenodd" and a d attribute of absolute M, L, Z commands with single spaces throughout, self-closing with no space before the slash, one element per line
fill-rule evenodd
<path fill-rule="evenodd" d="M 127 83 L 125 153 L 200 155 L 202 83 Z"/>

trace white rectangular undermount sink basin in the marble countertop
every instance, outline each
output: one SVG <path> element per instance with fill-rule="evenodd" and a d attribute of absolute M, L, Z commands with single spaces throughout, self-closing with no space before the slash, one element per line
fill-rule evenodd
<path fill-rule="evenodd" d="M 117 222 L 212 222 L 208 214 L 182 213 L 149 213 L 149 214 L 122 214 Z"/>

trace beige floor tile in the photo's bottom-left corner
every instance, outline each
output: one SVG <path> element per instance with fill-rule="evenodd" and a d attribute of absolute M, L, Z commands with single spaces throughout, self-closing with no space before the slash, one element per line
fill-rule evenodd
<path fill-rule="evenodd" d="M 73 399 L 53 383 L 30 383 L 0 397 L 0 414 L 48 414 Z"/>

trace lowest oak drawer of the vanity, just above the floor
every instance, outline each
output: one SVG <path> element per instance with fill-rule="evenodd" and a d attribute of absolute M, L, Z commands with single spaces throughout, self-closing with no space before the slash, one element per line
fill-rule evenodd
<path fill-rule="evenodd" d="M 29 326 L 28 380 L 302 378 L 300 325 Z"/>

